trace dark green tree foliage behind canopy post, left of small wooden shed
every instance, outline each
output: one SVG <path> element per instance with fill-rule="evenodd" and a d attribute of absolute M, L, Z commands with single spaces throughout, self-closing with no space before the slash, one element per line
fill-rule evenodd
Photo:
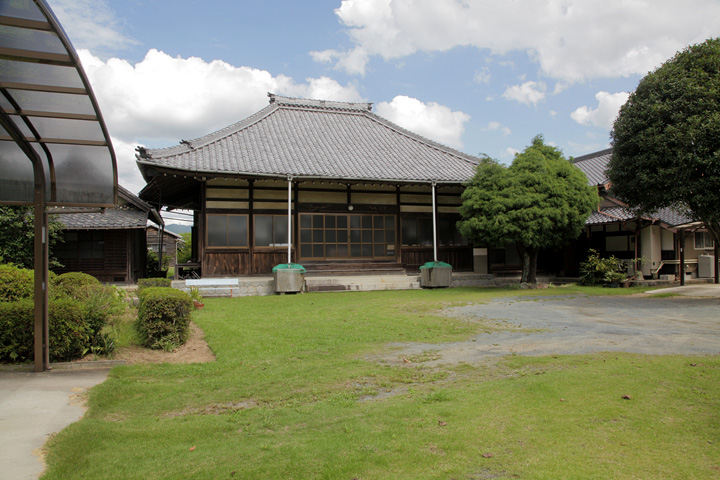
<path fill-rule="evenodd" d="M 62 223 L 52 215 L 48 219 L 50 267 L 61 264 L 53 256 L 53 247 L 62 241 Z M 0 205 L 0 261 L 33 269 L 35 258 L 35 214 L 29 206 Z"/>

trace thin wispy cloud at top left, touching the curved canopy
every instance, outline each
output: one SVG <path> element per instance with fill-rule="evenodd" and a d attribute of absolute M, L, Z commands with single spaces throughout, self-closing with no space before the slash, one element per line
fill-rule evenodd
<path fill-rule="evenodd" d="M 107 0 L 49 0 L 48 3 L 75 48 L 87 48 L 99 55 L 138 43 L 121 32 L 121 24 Z"/>

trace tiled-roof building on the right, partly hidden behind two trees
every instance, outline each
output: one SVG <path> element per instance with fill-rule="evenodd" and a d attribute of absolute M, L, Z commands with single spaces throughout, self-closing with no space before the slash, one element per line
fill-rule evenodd
<path fill-rule="evenodd" d="M 691 276 L 702 275 L 698 259 L 712 253 L 712 241 L 708 241 L 702 224 L 693 219 L 691 212 L 663 208 L 639 214 L 613 198 L 606 175 L 611 157 L 612 149 L 607 149 L 574 159 L 575 166 L 598 188 L 601 197 L 598 211 L 585 222 L 587 235 L 581 239 L 584 248 L 593 248 L 603 256 L 643 258 L 645 276 L 680 276 L 681 263 Z"/>

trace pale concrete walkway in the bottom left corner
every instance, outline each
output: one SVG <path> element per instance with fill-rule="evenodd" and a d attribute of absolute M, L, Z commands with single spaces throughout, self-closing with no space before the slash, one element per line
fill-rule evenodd
<path fill-rule="evenodd" d="M 83 416 L 83 394 L 109 371 L 0 372 L 0 477 L 37 479 L 45 468 L 40 448 Z"/>

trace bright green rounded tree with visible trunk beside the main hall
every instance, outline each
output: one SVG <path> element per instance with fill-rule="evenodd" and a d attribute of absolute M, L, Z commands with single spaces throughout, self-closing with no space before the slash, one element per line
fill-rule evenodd
<path fill-rule="evenodd" d="M 514 245 L 528 283 L 537 282 L 539 250 L 576 239 L 599 201 L 585 174 L 542 136 L 509 167 L 484 158 L 462 198 L 460 232 L 480 245 Z"/>

